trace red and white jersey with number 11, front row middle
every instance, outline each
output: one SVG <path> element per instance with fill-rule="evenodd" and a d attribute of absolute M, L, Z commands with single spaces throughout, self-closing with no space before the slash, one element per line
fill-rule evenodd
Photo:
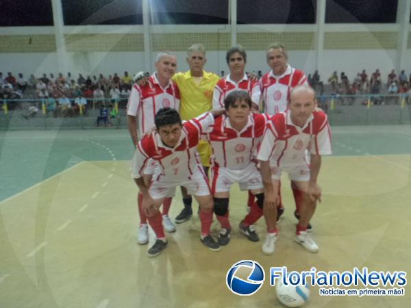
<path fill-rule="evenodd" d="M 256 158 L 268 117 L 252 113 L 242 131 L 236 131 L 228 116 L 219 116 L 205 136 L 212 146 L 211 164 L 232 170 L 246 168 Z"/>

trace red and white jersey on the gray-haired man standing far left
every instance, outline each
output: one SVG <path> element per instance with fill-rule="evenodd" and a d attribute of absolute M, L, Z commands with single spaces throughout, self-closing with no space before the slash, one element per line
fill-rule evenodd
<path fill-rule="evenodd" d="M 162 107 L 179 111 L 179 89 L 173 81 L 162 88 L 155 73 L 145 86 L 134 84 L 127 103 L 127 115 L 138 117 L 138 136 L 141 138 L 154 127 L 154 116 Z"/>

